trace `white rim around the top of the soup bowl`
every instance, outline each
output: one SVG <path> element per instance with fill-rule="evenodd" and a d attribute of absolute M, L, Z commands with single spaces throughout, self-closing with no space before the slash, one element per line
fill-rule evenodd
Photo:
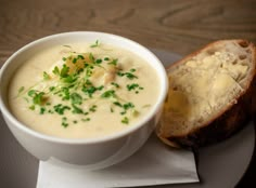
<path fill-rule="evenodd" d="M 146 49 L 145 46 L 141 45 L 140 43 L 130 40 L 128 38 L 118 36 L 118 35 L 113 35 L 113 33 L 107 33 L 107 32 L 100 32 L 100 31 L 71 31 L 71 32 L 60 32 L 60 33 L 54 33 L 54 35 L 50 35 L 40 39 L 37 39 L 33 42 L 27 43 L 26 45 L 22 46 L 21 49 L 18 49 L 16 52 L 14 52 L 3 64 L 3 66 L 0 69 L 0 85 L 3 82 L 3 72 L 8 69 L 8 67 L 10 66 L 10 64 L 12 64 L 13 59 L 18 56 L 21 53 L 23 53 L 24 51 L 29 50 L 30 48 L 33 48 L 36 44 L 40 44 L 43 43 L 48 40 L 52 40 L 54 38 L 59 38 L 59 37 L 65 37 L 65 36 L 71 36 L 71 35 L 100 35 L 102 37 L 106 37 L 106 38 L 116 38 L 120 41 L 124 42 L 128 42 L 131 45 L 137 45 L 138 48 L 142 49 L 144 52 L 146 52 L 149 55 L 152 56 L 152 58 L 154 59 L 154 62 L 157 63 L 158 65 L 158 69 L 162 73 L 164 73 L 163 78 L 161 79 L 161 84 L 162 84 L 162 92 L 159 93 L 159 99 L 156 102 L 156 104 L 154 104 L 153 109 L 150 111 L 150 113 L 148 113 L 145 116 L 145 118 L 142 119 L 142 121 L 139 121 L 135 124 L 132 124 L 132 126 L 129 126 L 128 129 L 121 130 L 119 132 L 110 134 L 110 135 L 105 135 L 103 137 L 97 137 L 97 138 L 63 138 L 63 137 L 57 137 L 57 136 L 52 136 L 52 135 L 47 135 L 44 133 L 40 133 L 38 131 L 33 130 L 31 127 L 28 127 L 27 125 L 25 125 L 25 123 L 20 122 L 13 115 L 12 112 L 9 110 L 9 108 L 7 107 L 7 105 L 3 102 L 2 98 L 2 90 L 0 91 L 0 109 L 2 111 L 2 116 L 5 117 L 15 127 L 17 127 L 20 131 L 23 131 L 34 137 L 43 139 L 43 140 L 48 140 L 48 142 L 52 142 L 52 143 L 60 143 L 60 144 L 69 144 L 69 145 L 79 145 L 79 144 L 97 144 L 97 143 L 103 143 L 103 142 L 108 142 L 108 140 L 113 140 L 113 139 L 117 139 L 120 137 L 124 137 L 126 135 L 129 135 L 131 133 L 133 133 L 135 131 L 141 129 L 143 125 L 146 124 L 146 122 L 149 122 L 154 116 L 156 116 L 156 113 L 161 110 L 162 105 L 164 103 L 164 99 L 167 95 L 168 92 L 168 79 L 167 79 L 167 73 L 166 70 L 164 68 L 164 65 L 161 63 L 161 61 L 156 57 L 156 55 L 151 52 L 149 49 Z M 133 52 L 132 52 L 133 53 Z M 143 57 L 142 57 L 143 58 Z M 157 73 L 158 75 L 158 73 Z M 161 76 L 159 76 L 161 78 Z M 10 81 L 10 80 L 5 80 L 5 81 Z M 8 91 L 8 89 L 7 89 Z M 7 97 L 8 98 L 8 97 Z M 8 103 L 8 102 L 5 102 Z M 4 118 L 4 120 L 5 120 Z M 7 121 L 7 120 L 5 120 Z"/>

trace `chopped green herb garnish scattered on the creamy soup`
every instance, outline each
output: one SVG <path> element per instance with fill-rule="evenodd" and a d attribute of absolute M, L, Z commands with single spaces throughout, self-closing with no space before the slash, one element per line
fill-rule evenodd
<path fill-rule="evenodd" d="M 91 48 L 99 45 L 100 43 L 97 40 Z M 71 46 L 68 45 L 67 48 Z M 41 90 L 38 90 L 37 86 L 31 86 L 27 92 L 24 92 L 24 86 L 18 89 L 18 94 L 22 92 L 26 94 L 27 97 L 24 98 L 29 105 L 28 108 L 37 111 L 39 115 L 60 115 L 62 117 L 62 126 L 67 127 L 68 123 L 76 124 L 78 122 L 90 121 L 90 116 L 98 112 L 98 109 L 101 108 L 98 102 L 104 99 L 110 104 L 108 112 L 121 115 L 121 123 L 129 124 L 128 118 L 138 116 L 139 111 L 132 102 L 119 96 L 120 85 L 116 82 L 115 76 L 128 79 L 124 91 L 128 90 L 139 93 L 143 88 L 130 81 L 138 79 L 136 75 L 137 69 L 124 70 L 120 68 L 121 66 L 117 66 L 118 58 L 106 55 L 102 57 L 91 52 L 68 53 L 68 55 L 62 57 L 63 65 L 53 68 L 52 73 L 54 76 L 47 71 L 42 72 L 42 82 L 51 79 L 51 81 L 46 82 L 47 88 L 43 85 Z M 113 80 L 105 81 L 105 76 L 108 73 L 106 69 L 108 65 L 115 66 L 115 70 L 113 70 L 115 75 Z M 100 71 L 98 72 L 98 70 Z M 95 77 L 100 77 L 99 81 L 102 80 L 102 85 L 99 85 Z M 55 96 L 59 100 L 52 99 L 52 96 Z M 88 104 L 92 102 L 93 105 L 90 106 L 87 102 Z M 78 113 L 79 120 L 68 119 L 71 113 Z"/>

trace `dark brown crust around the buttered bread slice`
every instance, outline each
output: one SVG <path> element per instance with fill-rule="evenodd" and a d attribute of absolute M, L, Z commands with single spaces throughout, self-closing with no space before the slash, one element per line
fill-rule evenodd
<path fill-rule="evenodd" d="M 242 129 L 249 119 L 255 116 L 256 112 L 256 50 L 254 44 L 242 39 L 229 40 L 235 41 L 240 43 L 240 45 L 247 45 L 253 53 L 253 65 L 254 70 L 249 72 L 247 84 L 245 85 L 244 92 L 242 92 L 230 105 L 219 111 L 219 113 L 215 117 L 212 117 L 210 120 L 200 127 L 193 129 L 188 134 L 177 135 L 177 136 L 166 136 L 164 137 L 162 134 L 157 133 L 158 137 L 167 145 L 172 147 L 201 147 L 209 144 L 214 144 L 226 139 L 233 135 L 236 131 Z M 219 42 L 225 42 L 223 40 L 216 41 L 209 43 L 205 48 L 196 51 L 181 61 L 172 64 L 169 68 L 167 68 L 167 72 L 169 73 L 169 69 L 174 66 L 182 64 L 190 59 L 191 57 L 200 54 L 205 49 L 212 48 Z"/>

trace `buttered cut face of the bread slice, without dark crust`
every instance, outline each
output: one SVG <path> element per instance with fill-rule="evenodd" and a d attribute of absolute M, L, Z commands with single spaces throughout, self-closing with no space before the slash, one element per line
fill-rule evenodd
<path fill-rule="evenodd" d="M 252 81 L 253 58 L 251 43 L 223 40 L 170 66 L 159 137 L 185 136 L 234 105 Z"/>

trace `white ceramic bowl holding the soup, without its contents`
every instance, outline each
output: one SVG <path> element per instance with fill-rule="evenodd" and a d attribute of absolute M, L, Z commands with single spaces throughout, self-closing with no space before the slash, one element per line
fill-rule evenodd
<path fill-rule="evenodd" d="M 10 111 L 8 88 L 14 71 L 31 54 L 51 45 L 72 42 L 94 42 L 113 44 L 127 49 L 155 67 L 159 84 L 156 104 L 139 123 L 116 134 L 101 138 L 68 139 L 36 132 L 21 123 Z M 159 59 L 148 49 L 129 39 L 94 31 L 65 32 L 36 40 L 15 52 L 0 71 L 0 108 L 3 118 L 20 144 L 39 160 L 55 159 L 71 164 L 82 164 L 89 170 L 102 169 L 115 164 L 135 153 L 149 138 L 154 130 L 167 94 L 168 80 Z"/>

